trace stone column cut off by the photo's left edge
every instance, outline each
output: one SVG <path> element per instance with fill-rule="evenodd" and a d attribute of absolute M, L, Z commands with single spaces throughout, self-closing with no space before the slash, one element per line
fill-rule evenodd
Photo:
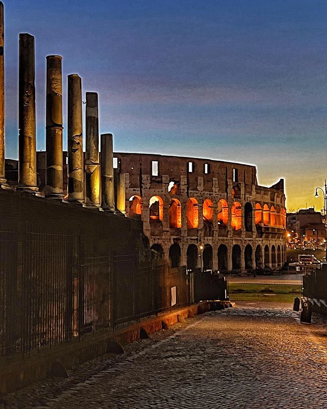
<path fill-rule="evenodd" d="M 4 4 L 0 2 L 0 187 L 6 187 L 5 177 L 5 25 Z"/>

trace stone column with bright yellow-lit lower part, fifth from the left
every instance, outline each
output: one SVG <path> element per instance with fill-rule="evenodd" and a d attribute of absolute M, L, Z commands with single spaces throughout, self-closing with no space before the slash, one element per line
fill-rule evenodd
<path fill-rule="evenodd" d="M 86 205 L 101 205 L 98 94 L 86 93 Z"/>

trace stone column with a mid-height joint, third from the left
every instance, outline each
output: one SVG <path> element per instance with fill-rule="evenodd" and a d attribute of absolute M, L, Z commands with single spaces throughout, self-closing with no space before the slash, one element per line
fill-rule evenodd
<path fill-rule="evenodd" d="M 60 55 L 46 57 L 46 186 L 45 195 L 62 198 L 62 77 Z"/>

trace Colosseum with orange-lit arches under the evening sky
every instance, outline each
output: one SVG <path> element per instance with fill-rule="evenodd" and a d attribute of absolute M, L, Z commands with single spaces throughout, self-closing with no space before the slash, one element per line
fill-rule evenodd
<path fill-rule="evenodd" d="M 219 271 L 277 269 L 286 259 L 284 180 L 259 186 L 251 165 L 114 153 L 126 214 L 143 221 L 154 257 Z"/>

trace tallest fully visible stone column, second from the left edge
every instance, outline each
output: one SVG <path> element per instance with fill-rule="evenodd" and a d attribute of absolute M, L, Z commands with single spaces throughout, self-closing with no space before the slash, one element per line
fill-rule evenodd
<path fill-rule="evenodd" d="M 36 122 L 34 37 L 19 34 L 18 91 L 18 186 L 17 190 L 36 192 Z"/>

